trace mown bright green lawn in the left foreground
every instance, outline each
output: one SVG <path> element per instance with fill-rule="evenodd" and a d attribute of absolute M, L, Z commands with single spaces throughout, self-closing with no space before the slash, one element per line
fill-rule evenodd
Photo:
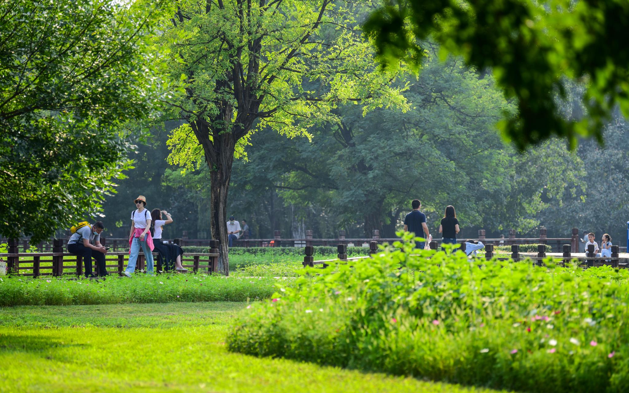
<path fill-rule="evenodd" d="M 495 392 L 230 353 L 245 303 L 0 308 L 1 392 Z"/>

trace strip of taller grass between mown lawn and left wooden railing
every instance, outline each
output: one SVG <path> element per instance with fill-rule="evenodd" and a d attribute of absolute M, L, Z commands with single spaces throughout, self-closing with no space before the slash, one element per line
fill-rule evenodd
<path fill-rule="evenodd" d="M 213 275 L 161 274 L 108 277 L 105 280 L 64 278 L 0 278 L 0 306 L 247 301 L 264 299 L 276 283 L 291 286 L 294 279 L 250 279 Z"/>

